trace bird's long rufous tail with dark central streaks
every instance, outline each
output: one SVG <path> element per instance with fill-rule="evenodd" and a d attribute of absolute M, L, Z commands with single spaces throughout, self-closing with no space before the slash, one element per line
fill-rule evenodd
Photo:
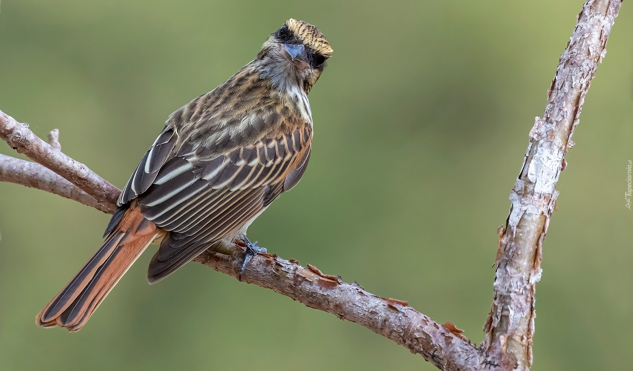
<path fill-rule="evenodd" d="M 132 205 L 101 248 L 37 314 L 37 325 L 79 330 L 157 234 L 156 225 Z"/>

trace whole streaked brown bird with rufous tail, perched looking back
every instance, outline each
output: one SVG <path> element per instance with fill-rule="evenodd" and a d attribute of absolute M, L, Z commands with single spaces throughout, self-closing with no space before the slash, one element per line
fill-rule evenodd
<path fill-rule="evenodd" d="M 246 255 L 265 248 L 249 225 L 294 187 L 310 161 L 308 101 L 332 56 L 310 23 L 287 20 L 255 59 L 212 91 L 173 112 L 117 200 L 104 242 L 37 314 L 42 327 L 78 331 L 118 280 L 154 242 L 154 284 L 207 249 Z"/>

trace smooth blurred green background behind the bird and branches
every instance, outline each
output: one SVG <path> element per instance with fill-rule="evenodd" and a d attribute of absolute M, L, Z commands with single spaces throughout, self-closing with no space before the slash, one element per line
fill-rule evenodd
<path fill-rule="evenodd" d="M 581 0 L 4 0 L 0 109 L 122 187 L 166 117 L 254 58 L 287 18 L 334 56 L 310 94 L 301 184 L 249 229 L 268 251 L 408 300 L 480 343 L 496 229 Z M 624 3 L 567 156 L 537 289 L 533 370 L 633 363 L 633 9 Z M 0 153 L 15 155 L 0 143 Z M 108 215 L 0 184 L 1 370 L 432 370 L 359 325 L 146 253 L 83 330 L 34 317 Z"/>

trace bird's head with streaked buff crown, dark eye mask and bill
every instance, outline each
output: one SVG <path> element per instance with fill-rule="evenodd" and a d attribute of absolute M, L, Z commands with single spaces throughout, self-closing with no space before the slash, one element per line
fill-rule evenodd
<path fill-rule="evenodd" d="M 268 37 L 256 60 L 273 85 L 295 84 L 308 93 L 330 56 L 332 47 L 318 28 L 291 18 Z"/>

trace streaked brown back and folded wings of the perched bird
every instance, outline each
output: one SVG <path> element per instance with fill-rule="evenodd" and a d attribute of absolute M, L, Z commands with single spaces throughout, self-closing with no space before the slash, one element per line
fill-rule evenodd
<path fill-rule="evenodd" d="M 310 123 L 247 72 L 173 113 L 123 189 L 106 234 L 134 198 L 145 218 L 169 232 L 150 263 L 150 282 L 235 234 L 303 175 Z M 248 94 L 236 98 L 236 91 Z"/>

